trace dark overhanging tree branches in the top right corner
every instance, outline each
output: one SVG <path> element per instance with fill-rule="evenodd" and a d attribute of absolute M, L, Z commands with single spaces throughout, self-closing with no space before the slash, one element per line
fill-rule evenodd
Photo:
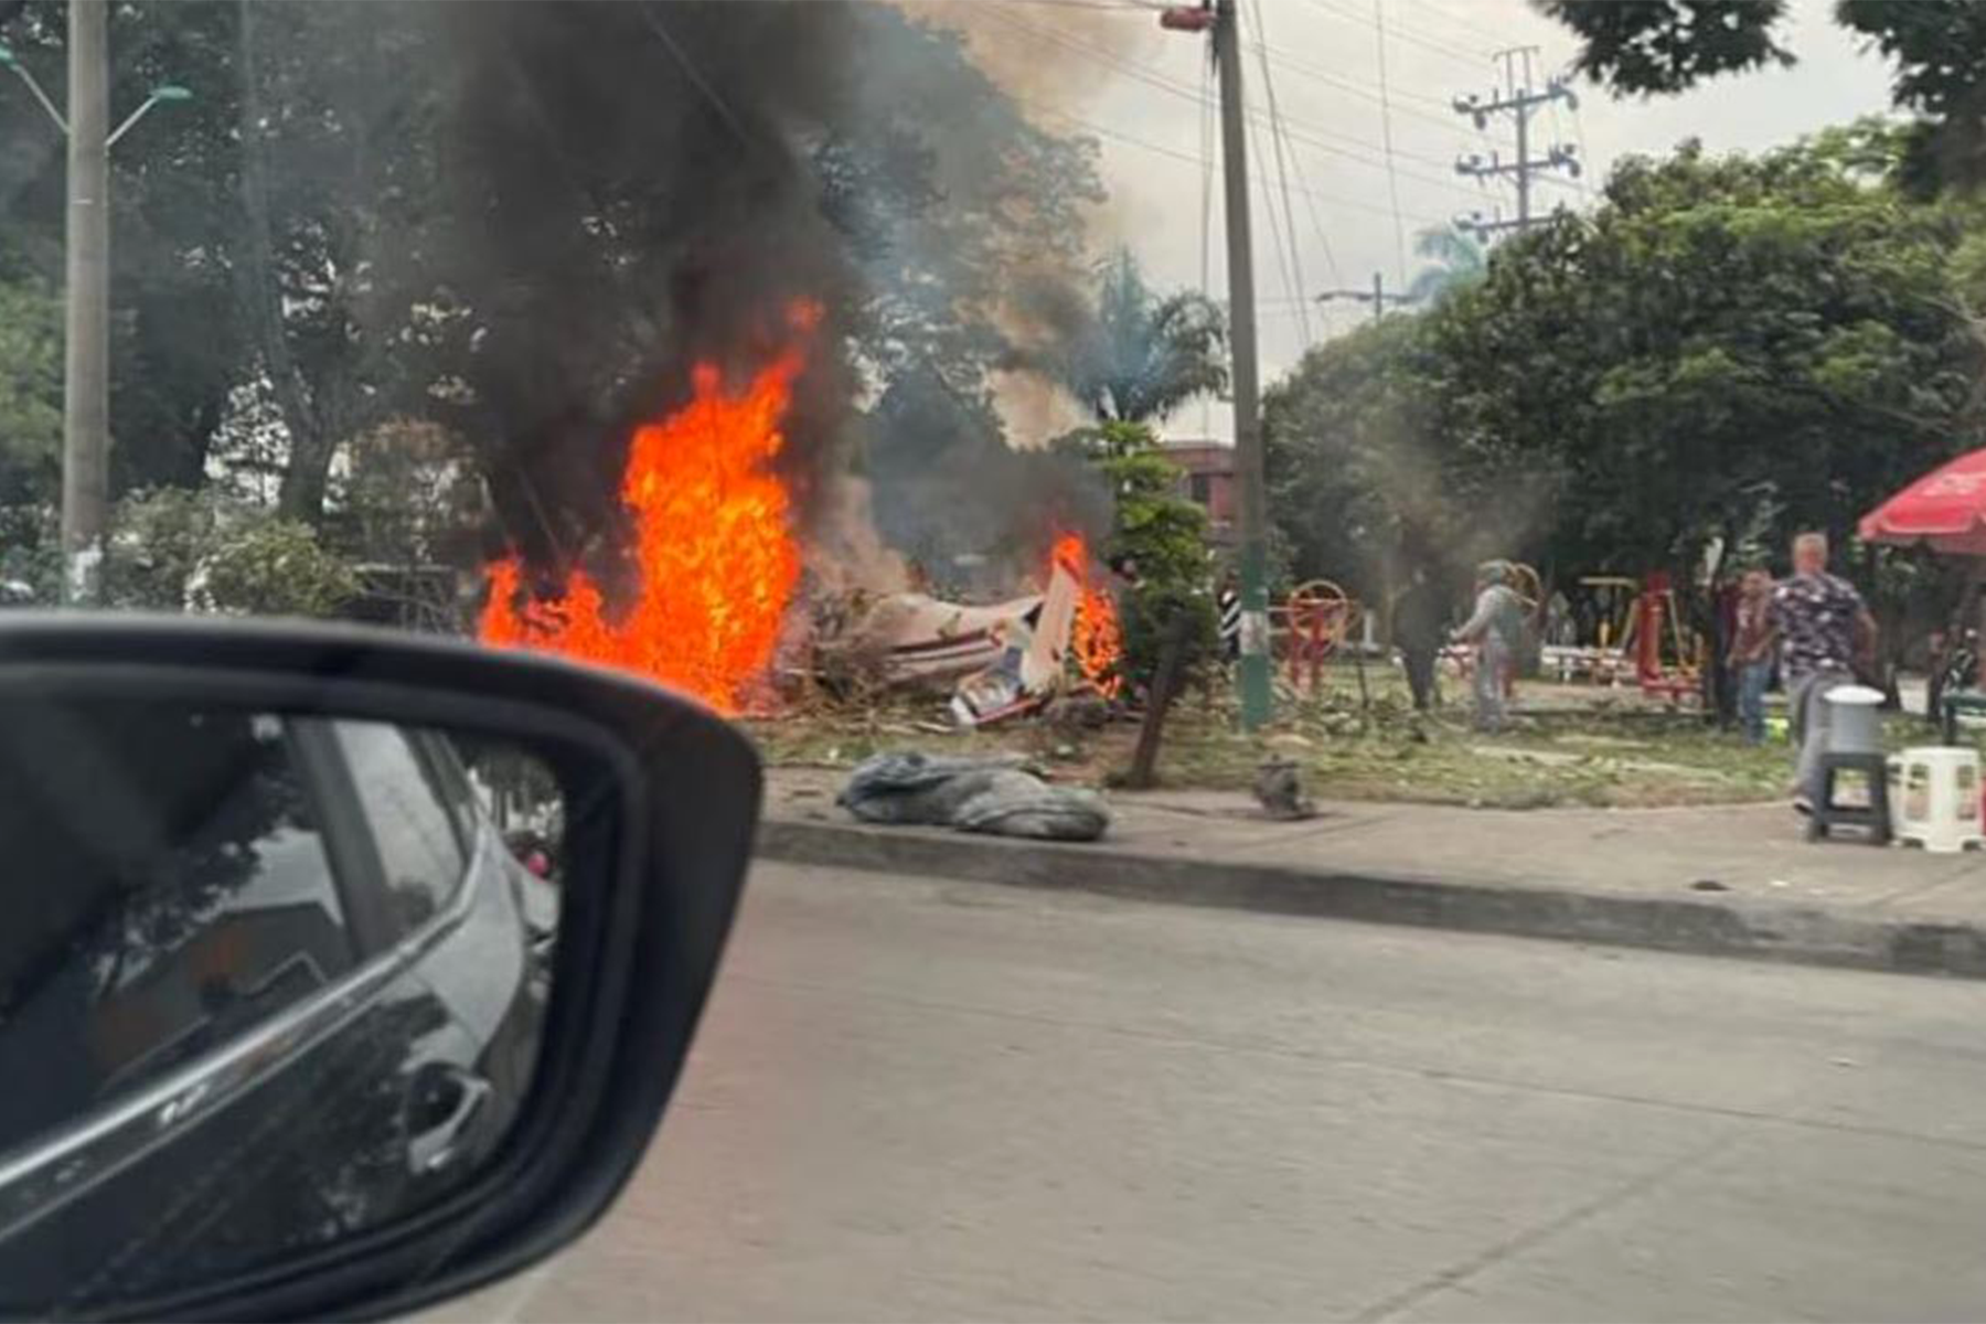
<path fill-rule="evenodd" d="M 1785 0 L 1535 0 L 1583 40 L 1577 67 L 1617 93 L 1672 93 L 1785 66 Z M 1976 0 L 1837 0 L 1837 20 L 1897 62 L 1895 99 L 1920 115 L 1909 177 L 1986 179 L 1986 8 Z"/>

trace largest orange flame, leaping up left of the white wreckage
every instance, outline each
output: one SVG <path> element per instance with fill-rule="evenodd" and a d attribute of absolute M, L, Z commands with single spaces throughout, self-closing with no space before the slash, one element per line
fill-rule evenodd
<path fill-rule="evenodd" d="M 816 306 L 792 314 L 812 330 Z M 735 713 L 767 671 L 800 580 L 792 500 L 771 472 L 804 355 L 788 347 L 741 391 L 715 363 L 691 369 L 693 397 L 636 429 L 622 472 L 634 516 L 639 596 L 608 617 L 600 586 L 574 570 L 552 601 L 518 601 L 520 558 L 489 568 L 485 643 L 564 653 L 647 675 Z"/>

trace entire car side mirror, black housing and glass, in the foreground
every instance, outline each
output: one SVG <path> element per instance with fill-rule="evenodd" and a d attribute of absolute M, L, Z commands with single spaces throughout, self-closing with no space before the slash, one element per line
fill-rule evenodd
<path fill-rule="evenodd" d="M 632 677 L 357 629 L 0 623 L 0 1316 L 379 1318 L 634 1171 L 761 794 Z"/>

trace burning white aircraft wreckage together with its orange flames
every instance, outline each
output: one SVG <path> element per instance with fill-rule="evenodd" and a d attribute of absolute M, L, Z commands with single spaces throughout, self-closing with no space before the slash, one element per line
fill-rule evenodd
<path fill-rule="evenodd" d="M 818 310 L 747 381 L 691 367 L 691 399 L 638 427 L 622 470 L 632 596 L 584 570 L 538 584 L 522 558 L 489 566 L 479 637 L 647 675 L 723 713 L 763 709 L 779 671 L 862 669 L 884 687 L 951 689 L 961 727 L 1035 713 L 1059 695 L 1122 687 L 1116 603 L 1080 534 L 1045 550 L 1039 582 L 969 605 L 920 592 L 808 603 L 792 492 L 775 461 Z M 804 625 L 800 625 L 804 621 Z"/>

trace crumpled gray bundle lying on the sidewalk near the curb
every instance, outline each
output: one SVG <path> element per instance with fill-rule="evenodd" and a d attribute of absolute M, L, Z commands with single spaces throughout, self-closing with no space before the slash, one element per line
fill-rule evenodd
<path fill-rule="evenodd" d="M 1102 796 L 1049 786 L 1015 756 L 876 754 L 854 770 L 838 804 L 868 824 L 1057 842 L 1094 842 L 1110 826 Z"/>

